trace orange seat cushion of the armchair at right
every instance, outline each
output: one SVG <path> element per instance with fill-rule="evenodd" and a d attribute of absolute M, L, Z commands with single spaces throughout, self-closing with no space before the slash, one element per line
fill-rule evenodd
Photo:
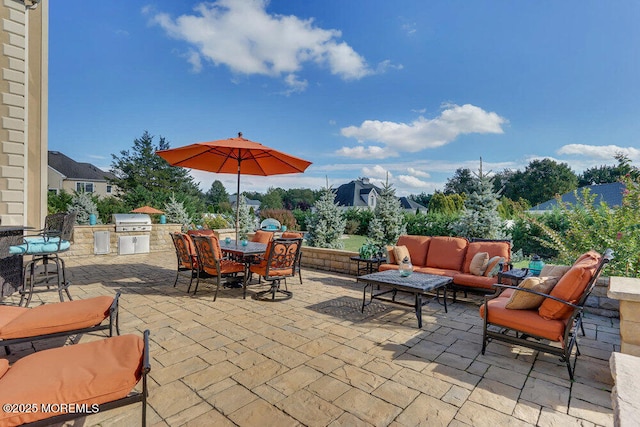
<path fill-rule="evenodd" d="M 504 294 L 504 292 L 503 292 Z M 524 332 L 525 334 L 561 341 L 564 337 L 566 320 L 547 320 L 538 314 L 538 310 L 510 310 L 506 308 L 509 298 L 501 294 L 498 298 L 487 301 L 489 318 L 493 325 Z M 480 306 L 480 317 L 484 319 L 485 306 Z"/>

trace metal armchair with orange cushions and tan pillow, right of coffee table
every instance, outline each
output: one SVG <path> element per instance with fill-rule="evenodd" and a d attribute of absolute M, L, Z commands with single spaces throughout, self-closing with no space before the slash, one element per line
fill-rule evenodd
<path fill-rule="evenodd" d="M 584 335 L 584 304 L 603 268 L 612 258 L 611 249 L 607 249 L 604 256 L 589 251 L 559 278 L 530 278 L 519 286 L 495 285 L 499 294 L 495 297 L 486 296 L 484 304 L 480 306 L 480 317 L 484 319 L 482 354 L 493 340 L 555 354 L 566 363 L 569 378 L 573 380 L 580 355 L 578 328 Z M 550 283 L 553 287 L 547 291 L 548 294 L 534 289 L 547 286 L 551 281 L 557 281 L 557 284 Z M 518 306 L 522 308 L 509 308 Z"/>

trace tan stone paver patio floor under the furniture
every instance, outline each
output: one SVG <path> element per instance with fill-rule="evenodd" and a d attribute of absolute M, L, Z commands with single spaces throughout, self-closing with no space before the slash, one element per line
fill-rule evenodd
<path fill-rule="evenodd" d="M 548 354 L 490 343 L 481 355 L 480 298 L 449 304 L 449 313 L 429 302 L 418 329 L 409 307 L 375 301 L 361 313 L 353 276 L 303 269 L 303 284 L 289 280 L 288 301 L 225 289 L 213 302 L 211 282 L 195 297 L 188 278 L 173 287 L 173 252 L 66 262 L 74 299 L 120 291 L 121 332 L 151 331 L 150 426 L 613 425 L 617 319 L 586 316 L 572 383 Z M 32 306 L 38 300 L 57 294 Z M 11 358 L 32 351 L 25 344 Z M 133 426 L 140 414 L 136 404 L 68 425 Z"/>

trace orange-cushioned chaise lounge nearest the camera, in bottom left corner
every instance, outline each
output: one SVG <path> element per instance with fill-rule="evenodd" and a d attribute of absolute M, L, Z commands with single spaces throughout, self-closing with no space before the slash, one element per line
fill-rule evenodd
<path fill-rule="evenodd" d="M 149 331 L 0 359 L 0 425 L 49 426 L 142 402 L 146 425 Z M 142 391 L 133 390 L 142 379 Z"/>

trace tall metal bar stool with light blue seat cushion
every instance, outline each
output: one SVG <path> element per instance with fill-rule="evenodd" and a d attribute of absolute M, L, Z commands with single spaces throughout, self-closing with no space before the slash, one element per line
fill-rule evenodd
<path fill-rule="evenodd" d="M 26 300 L 25 307 L 31 303 L 33 288 L 36 285 L 46 285 L 50 289 L 50 280 L 55 276 L 60 302 L 64 301 L 62 291 L 69 293 L 69 282 L 66 278 L 64 259 L 59 254 L 65 252 L 71 246 L 73 226 L 76 222 L 75 212 L 62 212 L 47 215 L 44 220 L 44 228 L 34 235 L 24 237 L 24 243 L 11 246 L 10 254 L 31 255 L 31 260 L 24 266 L 22 289 L 20 290 L 20 306 Z M 55 264 L 55 270 L 50 269 Z M 42 270 L 38 272 L 38 265 Z M 28 273 L 28 274 L 27 274 Z"/>

